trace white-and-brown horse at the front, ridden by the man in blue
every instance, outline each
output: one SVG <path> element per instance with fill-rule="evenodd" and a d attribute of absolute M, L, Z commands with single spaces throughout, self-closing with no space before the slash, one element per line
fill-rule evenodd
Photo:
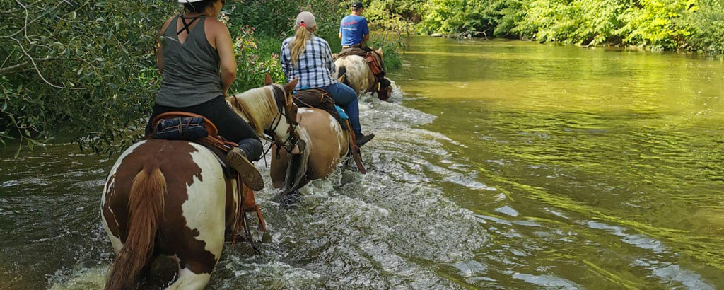
<path fill-rule="evenodd" d="M 382 63 L 382 49 L 377 49 L 375 52 L 376 57 L 379 57 L 378 62 Z M 364 57 L 358 55 L 340 57 L 334 60 L 334 66 L 336 67 L 334 78 L 344 80 L 344 83 L 353 88 L 357 94 L 362 91 L 369 91 L 370 93 L 377 93 L 377 97 L 382 101 L 390 98 L 392 86 L 389 86 L 389 84 L 382 86 L 377 81 Z"/>

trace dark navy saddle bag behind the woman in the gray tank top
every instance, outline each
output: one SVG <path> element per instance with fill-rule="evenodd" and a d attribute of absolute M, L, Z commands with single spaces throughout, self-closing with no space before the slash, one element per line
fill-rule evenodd
<path fill-rule="evenodd" d="M 203 117 L 173 117 L 159 120 L 153 138 L 165 140 L 195 140 L 209 136 Z"/>

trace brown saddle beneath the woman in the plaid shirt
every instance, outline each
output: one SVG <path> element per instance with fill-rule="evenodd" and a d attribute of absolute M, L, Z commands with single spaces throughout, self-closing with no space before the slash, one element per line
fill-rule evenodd
<path fill-rule="evenodd" d="M 352 125 L 350 125 L 349 120 L 342 120 L 342 117 L 340 117 L 340 114 L 337 113 L 337 109 L 334 107 L 334 99 L 329 96 L 329 93 L 321 88 L 308 88 L 295 91 L 292 94 L 292 99 L 294 99 L 294 103 L 297 105 L 297 107 L 311 107 L 316 109 L 322 109 L 324 110 L 324 112 L 328 112 L 329 115 L 332 115 L 334 119 L 336 119 L 337 122 L 340 123 L 342 130 L 345 131 L 348 136 L 348 140 L 350 141 L 349 154 L 352 156 L 352 159 L 355 160 L 355 164 L 357 165 L 357 168 L 360 170 L 360 172 L 362 174 L 366 174 L 367 170 L 362 164 L 360 148 L 359 146 L 357 146 L 357 140 L 355 138 L 355 133 L 352 130 Z"/>

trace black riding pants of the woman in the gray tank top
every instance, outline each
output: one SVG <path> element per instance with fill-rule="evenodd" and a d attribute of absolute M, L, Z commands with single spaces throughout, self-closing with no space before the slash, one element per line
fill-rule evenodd
<path fill-rule="evenodd" d="M 153 130 L 153 128 L 151 128 L 151 121 L 153 121 L 154 117 L 165 112 L 179 111 L 206 117 L 206 119 L 214 123 L 216 128 L 219 129 L 220 136 L 229 141 L 237 142 L 239 149 L 242 149 L 246 153 L 246 157 L 249 160 L 256 161 L 261 158 L 264 149 L 261 146 L 259 137 L 256 136 L 256 132 L 254 132 L 251 126 L 229 107 L 229 104 L 224 100 L 224 96 L 217 96 L 210 101 L 191 107 L 167 107 L 153 104 L 153 112 L 151 112 L 151 118 L 148 119 L 146 134 L 148 135 L 148 133 L 151 133 Z"/>

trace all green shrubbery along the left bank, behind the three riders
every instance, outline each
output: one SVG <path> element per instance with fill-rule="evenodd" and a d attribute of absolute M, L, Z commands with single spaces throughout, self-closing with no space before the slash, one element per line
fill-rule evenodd
<path fill-rule="evenodd" d="M 160 83 L 156 33 L 180 11 L 176 2 L 3 1 L 0 144 L 33 149 L 67 136 L 82 148 L 111 153 L 138 140 Z M 229 1 L 222 20 L 239 66 L 232 91 L 261 86 L 266 72 L 282 81 L 279 49 L 301 9 L 316 14 L 317 34 L 338 51 L 337 28 L 346 13 L 338 3 Z M 384 48 L 388 67 L 399 65 L 400 35 L 373 41 Z"/>

